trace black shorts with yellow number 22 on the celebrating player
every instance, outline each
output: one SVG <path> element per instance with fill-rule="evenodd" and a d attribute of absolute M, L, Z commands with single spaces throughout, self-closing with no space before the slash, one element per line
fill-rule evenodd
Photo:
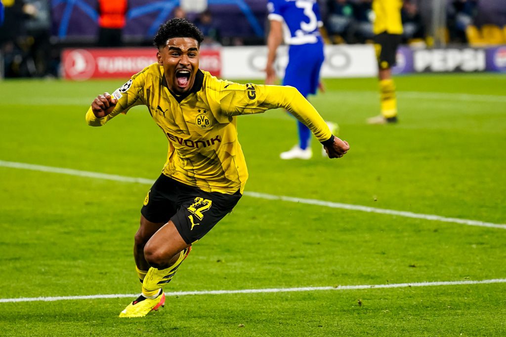
<path fill-rule="evenodd" d="M 161 174 L 151 186 L 141 214 L 155 223 L 172 220 L 190 245 L 230 213 L 241 197 L 239 190 L 233 195 L 204 192 Z"/>

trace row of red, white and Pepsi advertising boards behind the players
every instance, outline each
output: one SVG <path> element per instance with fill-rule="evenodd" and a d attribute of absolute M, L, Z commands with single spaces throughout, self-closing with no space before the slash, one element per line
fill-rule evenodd
<path fill-rule="evenodd" d="M 275 68 L 283 78 L 288 63 L 287 47 L 277 51 Z M 154 48 L 68 49 L 62 54 L 63 77 L 129 78 L 156 62 Z M 200 69 L 226 79 L 263 79 L 266 46 L 218 47 L 200 50 Z M 506 46 L 488 49 L 410 49 L 400 47 L 394 74 L 413 72 L 506 72 Z M 375 77 L 377 62 L 373 46 L 325 45 L 323 78 Z"/>

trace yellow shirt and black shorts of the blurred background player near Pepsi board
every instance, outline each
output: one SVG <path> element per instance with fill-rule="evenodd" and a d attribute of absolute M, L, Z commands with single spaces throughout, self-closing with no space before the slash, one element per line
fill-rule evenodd
<path fill-rule="evenodd" d="M 402 0 L 373 0 L 374 46 L 379 69 L 395 66 L 397 47 L 401 42 Z"/>

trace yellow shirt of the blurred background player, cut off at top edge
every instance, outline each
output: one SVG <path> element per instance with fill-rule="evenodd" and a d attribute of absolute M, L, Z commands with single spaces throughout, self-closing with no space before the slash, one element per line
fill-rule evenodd
<path fill-rule="evenodd" d="M 374 34 L 402 34 L 401 8 L 402 0 L 373 0 Z"/>

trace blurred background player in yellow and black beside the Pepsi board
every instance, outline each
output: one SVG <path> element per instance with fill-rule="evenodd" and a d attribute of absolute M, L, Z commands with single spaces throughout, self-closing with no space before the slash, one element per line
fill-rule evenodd
<path fill-rule="evenodd" d="M 402 0 L 373 0 L 374 47 L 378 61 L 381 115 L 369 118 L 369 124 L 397 123 L 397 98 L 392 67 L 395 66 L 397 47 L 401 42 Z"/>

